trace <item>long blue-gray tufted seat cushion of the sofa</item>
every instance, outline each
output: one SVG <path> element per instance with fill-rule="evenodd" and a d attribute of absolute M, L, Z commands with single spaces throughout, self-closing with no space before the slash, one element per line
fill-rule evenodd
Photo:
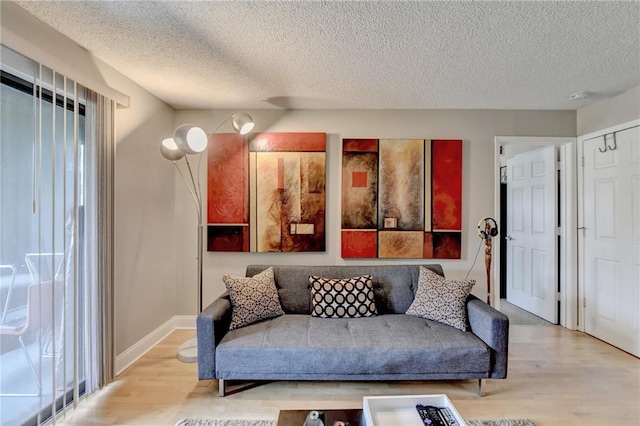
<path fill-rule="evenodd" d="M 419 317 L 284 315 L 227 333 L 216 349 L 216 377 L 455 377 L 488 373 L 490 358 L 473 333 Z"/>

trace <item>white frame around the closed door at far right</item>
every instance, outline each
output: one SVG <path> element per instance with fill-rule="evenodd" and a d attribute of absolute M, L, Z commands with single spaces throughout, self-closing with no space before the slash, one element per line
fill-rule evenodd
<path fill-rule="evenodd" d="M 598 130 L 595 132 L 591 132 L 591 133 L 587 133 L 581 136 L 578 136 L 577 138 L 577 142 L 576 142 L 576 227 L 574 229 L 576 229 L 576 263 L 578 265 L 580 265 L 580 263 L 578 262 L 578 250 L 577 248 L 578 246 L 578 232 L 577 228 L 578 227 L 582 227 L 584 226 L 584 210 L 582 208 L 580 208 L 580 206 L 578 205 L 578 202 L 582 202 L 584 200 L 584 176 L 583 176 L 583 169 L 579 166 L 580 163 L 578 163 L 577 161 L 579 160 L 580 162 L 584 161 L 584 152 L 582 150 L 582 145 L 584 143 L 584 141 L 589 140 L 589 139 L 593 139 L 593 138 L 597 138 L 600 136 L 605 136 L 608 133 L 613 133 L 613 132 L 619 132 L 621 130 L 625 130 L 628 129 L 630 127 L 636 127 L 636 126 L 640 126 L 640 119 L 637 120 L 631 120 L 631 121 L 627 121 L 625 123 L 622 124 L 617 124 L 615 126 L 611 126 L 611 127 L 607 127 L 606 129 L 602 129 L 602 130 Z M 584 252 L 581 250 L 581 252 Z M 583 266 L 583 265 L 581 265 Z M 577 275 L 577 291 L 578 294 L 581 295 L 581 299 L 582 297 L 584 297 L 585 294 L 585 288 L 584 288 L 584 280 L 580 279 L 580 277 L 582 276 L 583 271 L 582 271 L 582 267 L 580 267 L 580 269 L 578 269 L 576 267 L 576 275 Z M 582 304 L 579 304 L 580 307 L 582 307 Z M 579 313 L 578 313 L 578 330 L 584 332 L 585 331 L 585 318 L 584 318 L 584 309 L 580 309 Z"/>

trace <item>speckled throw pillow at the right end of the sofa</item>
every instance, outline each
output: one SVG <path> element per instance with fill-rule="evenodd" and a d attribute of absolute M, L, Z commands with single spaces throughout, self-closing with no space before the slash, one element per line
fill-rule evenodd
<path fill-rule="evenodd" d="M 418 291 L 406 313 L 466 331 L 465 303 L 475 283 L 475 280 L 447 280 L 421 266 Z"/>

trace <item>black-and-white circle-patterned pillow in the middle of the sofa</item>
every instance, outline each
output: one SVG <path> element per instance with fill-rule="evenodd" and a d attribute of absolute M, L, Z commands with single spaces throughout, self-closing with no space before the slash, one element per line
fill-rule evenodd
<path fill-rule="evenodd" d="M 349 279 L 310 276 L 311 316 L 359 318 L 378 314 L 371 275 Z"/>

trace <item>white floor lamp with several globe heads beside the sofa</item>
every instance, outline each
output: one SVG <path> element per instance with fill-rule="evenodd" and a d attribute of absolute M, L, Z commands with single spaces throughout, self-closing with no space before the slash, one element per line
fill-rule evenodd
<path fill-rule="evenodd" d="M 231 120 L 233 130 L 241 135 L 249 133 L 254 126 L 253 119 L 249 114 L 237 113 L 226 118 L 216 127 L 211 134 L 214 134 L 224 123 Z M 204 130 L 193 124 L 183 124 L 179 126 L 173 133 L 172 138 L 167 138 L 160 144 L 160 152 L 167 160 L 173 162 L 178 174 L 182 178 L 189 195 L 193 200 L 198 217 L 198 247 L 197 247 L 197 294 L 198 294 L 198 313 L 202 312 L 202 191 L 200 189 L 200 163 L 202 154 L 208 145 L 208 136 Z M 194 175 L 193 168 L 189 162 L 189 155 L 198 155 L 198 167 Z M 178 166 L 178 161 L 184 158 L 186 164 L 186 172 Z M 187 175 L 185 177 L 185 174 Z M 183 362 L 196 362 L 198 360 L 198 343 L 193 338 L 184 342 L 178 348 L 178 359 Z"/>

